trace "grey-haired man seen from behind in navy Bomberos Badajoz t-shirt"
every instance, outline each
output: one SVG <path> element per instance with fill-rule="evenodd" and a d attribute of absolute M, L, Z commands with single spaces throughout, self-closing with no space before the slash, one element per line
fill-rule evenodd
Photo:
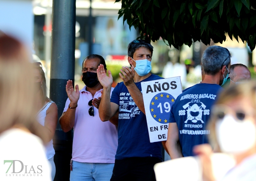
<path fill-rule="evenodd" d="M 210 109 L 229 76 L 230 58 L 228 49 L 208 47 L 201 59 L 204 80 L 180 94 L 172 105 L 166 142 L 172 159 L 193 156 L 195 145 L 208 143 Z"/>

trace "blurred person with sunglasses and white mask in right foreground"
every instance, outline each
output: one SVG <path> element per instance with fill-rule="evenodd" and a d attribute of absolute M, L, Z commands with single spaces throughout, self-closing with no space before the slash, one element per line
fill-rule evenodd
<path fill-rule="evenodd" d="M 208 128 L 210 143 L 218 152 L 231 154 L 236 165 L 221 181 L 256 180 L 256 82 L 231 86 L 218 97 Z M 204 181 L 215 181 L 212 147 L 198 145 L 194 152 L 202 163 Z"/>

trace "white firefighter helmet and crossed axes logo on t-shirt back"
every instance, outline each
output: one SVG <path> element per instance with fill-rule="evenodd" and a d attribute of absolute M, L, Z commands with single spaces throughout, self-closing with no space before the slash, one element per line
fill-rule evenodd
<path fill-rule="evenodd" d="M 197 121 L 201 121 L 201 123 L 204 123 L 202 120 L 202 115 L 204 112 L 204 109 L 206 109 L 206 105 L 204 103 L 201 103 L 201 105 L 197 105 L 196 103 L 190 106 L 191 102 L 183 105 L 183 109 L 187 109 L 187 119 L 185 123 L 188 121 L 192 121 L 192 123 L 197 123 Z"/>

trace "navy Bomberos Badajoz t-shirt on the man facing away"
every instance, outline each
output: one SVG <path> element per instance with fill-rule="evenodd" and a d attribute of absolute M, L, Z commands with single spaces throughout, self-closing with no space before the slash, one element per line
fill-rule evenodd
<path fill-rule="evenodd" d="M 170 111 L 169 123 L 177 123 L 183 156 L 193 156 L 193 147 L 208 143 L 206 125 L 210 109 L 223 88 L 217 84 L 196 84 L 180 94 Z"/>

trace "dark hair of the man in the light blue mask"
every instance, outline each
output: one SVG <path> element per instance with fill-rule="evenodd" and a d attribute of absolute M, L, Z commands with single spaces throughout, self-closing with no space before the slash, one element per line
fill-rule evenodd
<path fill-rule="evenodd" d="M 128 56 L 133 58 L 134 52 L 140 47 L 145 47 L 149 49 L 151 51 L 151 56 L 153 55 L 153 46 L 148 41 L 136 39 L 128 45 Z"/>

